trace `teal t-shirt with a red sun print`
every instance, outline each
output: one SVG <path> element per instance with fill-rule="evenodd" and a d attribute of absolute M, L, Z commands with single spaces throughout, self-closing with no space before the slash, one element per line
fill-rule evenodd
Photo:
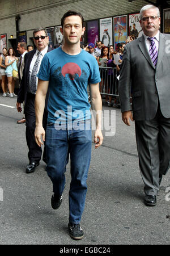
<path fill-rule="evenodd" d="M 59 47 L 45 54 L 37 77 L 49 81 L 48 121 L 73 123 L 91 118 L 87 86 L 100 82 L 94 56 L 82 51 L 69 55 Z"/>

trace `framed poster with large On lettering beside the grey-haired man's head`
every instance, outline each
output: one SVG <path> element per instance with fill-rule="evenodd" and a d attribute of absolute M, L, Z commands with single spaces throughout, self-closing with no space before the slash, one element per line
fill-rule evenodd
<path fill-rule="evenodd" d="M 139 13 L 129 14 L 129 36 L 131 36 L 133 39 L 137 39 L 143 35 L 143 30 L 139 22 L 139 16 Z"/>

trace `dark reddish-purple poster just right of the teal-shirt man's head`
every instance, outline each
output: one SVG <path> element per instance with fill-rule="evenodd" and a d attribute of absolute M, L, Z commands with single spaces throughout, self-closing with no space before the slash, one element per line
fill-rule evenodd
<path fill-rule="evenodd" d="M 96 44 L 99 40 L 99 23 L 98 20 L 87 22 L 87 42 Z"/>

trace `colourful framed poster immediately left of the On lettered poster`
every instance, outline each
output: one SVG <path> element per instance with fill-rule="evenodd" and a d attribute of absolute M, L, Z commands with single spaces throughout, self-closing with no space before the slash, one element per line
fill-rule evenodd
<path fill-rule="evenodd" d="M 117 16 L 114 20 L 114 49 L 117 50 L 118 43 L 125 43 L 128 36 L 127 32 L 127 15 Z"/>

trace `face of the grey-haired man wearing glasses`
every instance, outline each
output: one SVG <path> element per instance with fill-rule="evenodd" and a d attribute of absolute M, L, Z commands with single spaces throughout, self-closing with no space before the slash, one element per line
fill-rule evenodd
<path fill-rule="evenodd" d="M 156 33 L 159 31 L 159 25 L 160 25 L 160 17 L 153 19 L 153 17 L 157 17 L 158 13 L 156 9 L 148 9 L 143 12 L 143 17 L 148 19 L 140 20 L 141 27 L 143 32 L 145 33 L 146 36 L 155 36 Z"/>

